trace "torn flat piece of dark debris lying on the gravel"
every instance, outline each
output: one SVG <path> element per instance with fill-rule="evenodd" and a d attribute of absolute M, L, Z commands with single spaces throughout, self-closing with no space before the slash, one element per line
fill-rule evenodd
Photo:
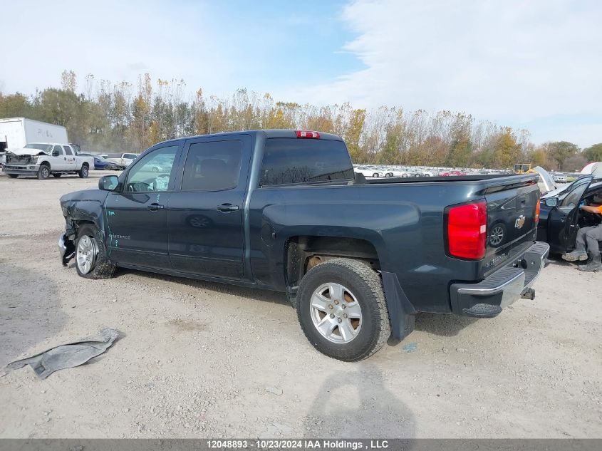
<path fill-rule="evenodd" d="M 119 333 L 115 329 L 102 328 L 97 336 L 56 346 L 56 348 L 48 349 L 35 356 L 11 362 L 6 366 L 6 371 L 17 370 L 29 365 L 39 378 L 46 379 L 55 371 L 80 366 L 90 358 L 100 356 L 110 348 L 118 336 Z"/>

